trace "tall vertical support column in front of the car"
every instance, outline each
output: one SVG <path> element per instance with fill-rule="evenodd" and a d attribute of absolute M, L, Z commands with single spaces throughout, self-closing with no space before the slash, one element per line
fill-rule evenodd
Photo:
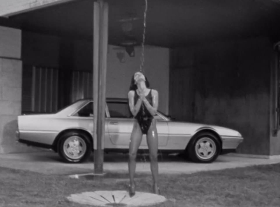
<path fill-rule="evenodd" d="M 93 6 L 93 113 L 94 113 L 94 173 L 103 173 L 106 72 L 108 45 L 108 3 L 103 0 Z"/>

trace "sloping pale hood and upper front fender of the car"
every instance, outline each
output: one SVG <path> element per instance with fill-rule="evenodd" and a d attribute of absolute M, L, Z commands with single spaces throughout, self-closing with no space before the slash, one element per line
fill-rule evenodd
<path fill-rule="evenodd" d="M 210 124 L 170 121 L 168 122 L 168 126 L 169 132 L 175 134 L 194 135 L 195 133 L 203 129 L 211 129 L 213 131 L 216 131 L 220 136 L 242 137 L 242 135 L 234 129 Z"/>

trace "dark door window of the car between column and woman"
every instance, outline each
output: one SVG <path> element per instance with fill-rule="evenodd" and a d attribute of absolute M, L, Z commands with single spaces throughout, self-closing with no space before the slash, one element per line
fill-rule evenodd
<path fill-rule="evenodd" d="M 132 118 L 127 102 L 107 102 L 111 118 Z"/>

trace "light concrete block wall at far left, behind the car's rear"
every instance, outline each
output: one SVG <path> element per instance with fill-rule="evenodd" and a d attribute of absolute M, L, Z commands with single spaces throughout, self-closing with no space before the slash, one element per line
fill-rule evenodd
<path fill-rule="evenodd" d="M 17 116 L 21 114 L 21 31 L 0 26 L 0 153 L 22 151 L 16 142 Z"/>

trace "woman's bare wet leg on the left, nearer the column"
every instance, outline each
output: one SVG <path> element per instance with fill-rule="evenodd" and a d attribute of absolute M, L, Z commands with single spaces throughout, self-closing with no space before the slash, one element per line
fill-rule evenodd
<path fill-rule="evenodd" d="M 130 196 L 135 194 L 134 174 L 136 169 L 137 150 L 142 141 L 142 131 L 137 121 L 134 122 L 129 144 L 128 173 L 130 179 Z"/>

